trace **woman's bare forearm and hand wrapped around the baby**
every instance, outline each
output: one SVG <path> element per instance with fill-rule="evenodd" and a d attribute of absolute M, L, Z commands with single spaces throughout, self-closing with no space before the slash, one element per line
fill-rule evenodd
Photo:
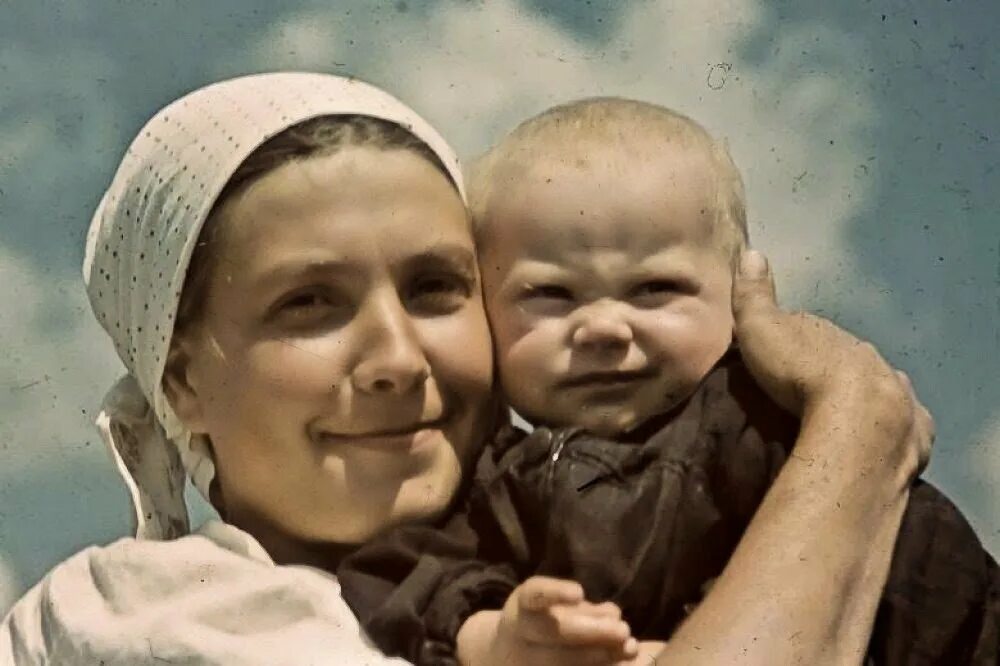
<path fill-rule="evenodd" d="M 780 311 L 759 255 L 743 268 L 743 357 L 802 428 L 726 569 L 656 663 L 858 663 L 933 422 L 871 345 Z"/>

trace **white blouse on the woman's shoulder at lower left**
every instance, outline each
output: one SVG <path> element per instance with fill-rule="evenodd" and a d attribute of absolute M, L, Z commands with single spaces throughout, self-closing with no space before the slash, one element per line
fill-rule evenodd
<path fill-rule="evenodd" d="M 121 539 L 58 565 L 0 624 L 0 664 L 406 664 L 381 654 L 335 577 L 278 566 L 218 520 Z"/>

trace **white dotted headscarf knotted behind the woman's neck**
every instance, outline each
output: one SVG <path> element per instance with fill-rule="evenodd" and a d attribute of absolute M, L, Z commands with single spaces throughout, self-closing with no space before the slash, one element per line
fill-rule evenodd
<path fill-rule="evenodd" d="M 411 109 L 355 79 L 286 72 L 216 83 L 162 109 L 129 146 L 94 213 L 84 281 L 128 369 L 105 396 L 97 426 L 128 486 L 139 538 L 186 534 L 185 476 L 206 499 L 215 476 L 208 446 L 184 428 L 162 389 L 202 224 L 261 143 L 311 118 L 349 114 L 408 129 L 440 157 L 464 197 L 454 152 Z"/>

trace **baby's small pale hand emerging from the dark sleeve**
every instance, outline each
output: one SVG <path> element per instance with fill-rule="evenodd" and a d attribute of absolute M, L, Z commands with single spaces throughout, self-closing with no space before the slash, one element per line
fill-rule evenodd
<path fill-rule="evenodd" d="M 609 666 L 637 654 L 615 604 L 592 604 L 578 583 L 542 576 L 519 585 L 503 610 L 470 617 L 458 633 L 465 666 Z"/>

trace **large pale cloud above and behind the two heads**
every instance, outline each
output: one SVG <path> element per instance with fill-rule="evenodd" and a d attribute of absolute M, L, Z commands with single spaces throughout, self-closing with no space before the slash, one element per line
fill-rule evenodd
<path fill-rule="evenodd" d="M 576 97 L 678 108 L 729 141 L 747 180 L 755 243 L 771 256 L 788 302 L 839 302 L 843 293 L 856 307 L 883 302 L 885 285 L 859 279 L 845 242 L 872 187 L 860 137 L 874 121 L 868 75 L 849 60 L 859 45 L 847 32 L 799 24 L 754 63 L 739 53 L 762 27 L 757 0 L 633 3 L 597 45 L 511 0 L 442 2 L 389 21 L 354 16 L 353 30 L 344 17 L 339 7 L 290 15 L 243 64 L 363 73 L 420 109 L 466 156 Z M 363 29 L 358 21 L 367 21 Z M 359 48 L 362 41 L 376 47 Z M 818 63 L 805 76 L 804 53 Z"/>

